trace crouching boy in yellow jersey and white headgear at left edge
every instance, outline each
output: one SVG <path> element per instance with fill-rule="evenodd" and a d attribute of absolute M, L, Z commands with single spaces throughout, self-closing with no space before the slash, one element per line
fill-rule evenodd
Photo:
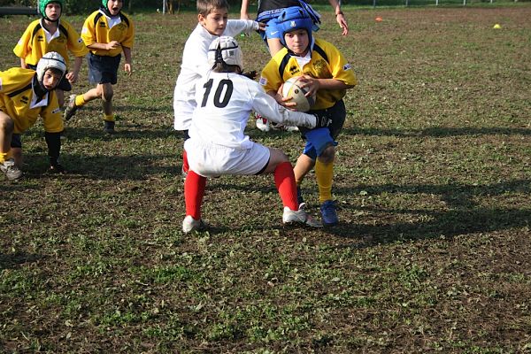
<path fill-rule="evenodd" d="M 22 176 L 20 135 L 39 116 L 48 144 L 50 171 L 64 172 L 58 160 L 63 119 L 55 89 L 65 73 L 65 59 L 55 51 L 44 54 L 36 70 L 13 67 L 0 72 L 0 171 L 8 180 Z"/>

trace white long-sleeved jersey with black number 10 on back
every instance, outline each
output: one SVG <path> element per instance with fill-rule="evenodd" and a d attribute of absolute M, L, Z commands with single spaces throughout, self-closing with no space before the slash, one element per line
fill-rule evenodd
<path fill-rule="evenodd" d="M 237 73 L 208 73 L 196 85 L 196 110 L 189 135 L 206 143 L 250 149 L 243 131 L 250 112 L 288 126 L 315 127 L 311 114 L 289 111 L 264 92 L 261 85 Z"/>

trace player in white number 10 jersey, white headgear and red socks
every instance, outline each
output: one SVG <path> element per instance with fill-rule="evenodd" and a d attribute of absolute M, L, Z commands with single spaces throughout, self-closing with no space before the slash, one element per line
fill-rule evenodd
<path fill-rule="evenodd" d="M 292 165 L 281 151 L 252 142 L 244 135 L 250 112 L 266 114 L 279 123 L 301 127 L 325 127 L 327 119 L 289 111 L 268 96 L 258 82 L 243 76 L 242 51 L 232 37 L 221 36 L 208 51 L 212 72 L 196 82 L 196 110 L 184 149 L 189 158 L 189 173 L 184 182 L 186 217 L 182 231 L 204 227 L 201 204 L 206 177 L 221 174 L 273 173 L 284 205 L 282 221 L 319 227 L 320 223 L 299 209 Z"/>

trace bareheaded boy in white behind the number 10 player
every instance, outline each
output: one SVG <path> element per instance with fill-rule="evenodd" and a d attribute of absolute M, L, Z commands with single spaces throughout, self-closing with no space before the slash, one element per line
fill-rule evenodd
<path fill-rule="evenodd" d="M 264 29 L 264 25 L 256 21 L 227 17 L 227 0 L 197 0 L 198 24 L 184 45 L 181 73 L 173 92 L 173 128 L 182 132 L 185 141 L 189 138 L 188 129 L 196 109 L 196 81 L 211 69 L 207 58 L 209 45 L 220 35 L 234 37 Z M 188 173 L 188 169 L 186 150 L 183 150 L 182 173 Z"/>

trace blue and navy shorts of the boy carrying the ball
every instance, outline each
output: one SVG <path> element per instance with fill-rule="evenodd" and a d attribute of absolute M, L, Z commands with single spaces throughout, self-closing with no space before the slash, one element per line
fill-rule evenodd
<path fill-rule="evenodd" d="M 314 129 L 307 129 L 299 127 L 301 134 L 306 140 L 303 154 L 315 160 L 320 156 L 328 146 L 337 146 L 335 139 L 342 130 L 342 126 L 347 116 L 345 104 L 342 100 L 326 110 L 310 111 L 309 113 L 317 115 L 326 115 L 332 119 L 332 123 L 328 127 L 319 127 Z"/>

